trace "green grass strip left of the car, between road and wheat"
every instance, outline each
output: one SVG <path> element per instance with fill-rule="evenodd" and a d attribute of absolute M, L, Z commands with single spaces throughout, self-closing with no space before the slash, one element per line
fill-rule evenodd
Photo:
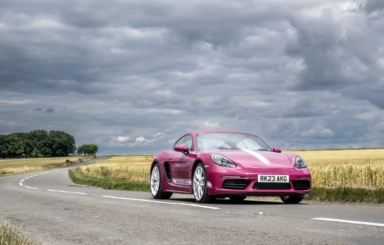
<path fill-rule="evenodd" d="M 92 185 L 107 190 L 151 191 L 149 182 L 131 181 L 123 178 L 95 177 L 85 174 L 79 167 L 69 170 L 70 179 L 80 185 Z"/>

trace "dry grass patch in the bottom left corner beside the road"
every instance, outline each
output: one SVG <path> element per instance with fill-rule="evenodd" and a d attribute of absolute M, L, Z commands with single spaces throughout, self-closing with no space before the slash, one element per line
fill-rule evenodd
<path fill-rule="evenodd" d="M 20 231 L 18 228 L 13 228 L 3 221 L 0 221 L 0 244 L 1 245 L 30 245 L 36 244 L 31 237 Z"/>

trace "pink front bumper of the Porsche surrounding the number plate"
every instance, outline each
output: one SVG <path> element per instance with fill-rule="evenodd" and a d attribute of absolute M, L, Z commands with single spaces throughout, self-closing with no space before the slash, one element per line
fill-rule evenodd
<path fill-rule="evenodd" d="M 230 195 L 246 195 L 246 196 L 303 196 L 311 193 L 311 173 L 307 168 L 296 169 L 296 167 L 244 167 L 237 166 L 235 168 L 227 168 L 210 164 L 205 168 L 207 172 L 208 182 L 208 194 L 228 197 Z M 269 183 L 263 186 L 263 189 L 257 187 L 257 177 L 259 174 L 274 174 L 274 175 L 289 175 L 289 183 L 282 184 L 282 188 L 279 184 L 269 188 Z M 240 176 L 241 178 L 223 177 L 223 176 Z M 306 179 L 303 179 L 306 178 Z M 242 189 L 228 189 L 228 185 L 223 186 L 223 182 L 227 180 L 241 180 L 243 182 Z M 305 182 L 308 184 L 306 187 L 298 188 L 298 182 Z M 244 184 L 245 183 L 245 184 Z M 255 184 L 256 183 L 256 184 Z M 264 182 L 265 183 L 265 182 Z M 295 185 L 294 185 L 295 184 Z M 255 185 L 255 186 L 254 186 Z M 276 185 L 278 187 L 276 187 Z M 302 186 L 301 186 L 302 187 Z M 259 189 L 254 189 L 259 188 Z M 277 189 L 276 189 L 277 188 Z"/>

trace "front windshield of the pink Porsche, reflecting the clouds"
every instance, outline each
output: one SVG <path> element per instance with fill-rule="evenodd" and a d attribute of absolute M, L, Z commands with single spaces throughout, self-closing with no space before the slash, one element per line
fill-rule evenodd
<path fill-rule="evenodd" d="M 259 137 L 252 134 L 232 132 L 212 132 L 197 134 L 196 148 L 198 151 L 222 149 L 248 149 L 272 151 Z"/>

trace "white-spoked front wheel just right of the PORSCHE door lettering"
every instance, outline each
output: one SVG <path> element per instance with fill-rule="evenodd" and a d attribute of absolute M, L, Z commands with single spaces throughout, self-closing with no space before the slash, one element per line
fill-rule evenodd
<path fill-rule="evenodd" d="M 192 192 L 197 203 L 210 203 L 214 200 L 208 195 L 207 172 L 205 172 L 204 164 L 201 162 L 196 165 L 193 171 Z"/>

